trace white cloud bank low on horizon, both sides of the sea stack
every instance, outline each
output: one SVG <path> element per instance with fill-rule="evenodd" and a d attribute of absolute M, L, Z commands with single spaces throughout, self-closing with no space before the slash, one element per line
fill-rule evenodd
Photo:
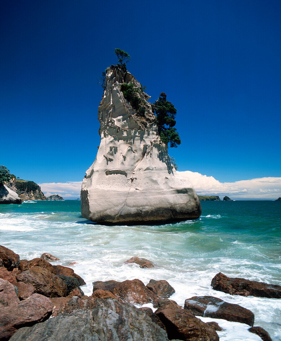
<path fill-rule="evenodd" d="M 235 182 L 219 182 L 213 176 L 196 172 L 177 172 L 190 180 L 197 194 L 219 195 L 221 199 L 228 195 L 231 199 L 240 200 L 275 200 L 281 197 L 281 177 L 264 177 Z M 39 183 L 46 196 L 59 194 L 65 199 L 80 197 L 82 181 Z"/>

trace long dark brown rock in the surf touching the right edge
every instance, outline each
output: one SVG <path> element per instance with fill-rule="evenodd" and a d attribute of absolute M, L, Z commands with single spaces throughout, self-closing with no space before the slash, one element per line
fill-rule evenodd
<path fill-rule="evenodd" d="M 212 287 L 230 295 L 281 298 L 281 285 L 230 278 L 219 272 L 212 279 Z"/>

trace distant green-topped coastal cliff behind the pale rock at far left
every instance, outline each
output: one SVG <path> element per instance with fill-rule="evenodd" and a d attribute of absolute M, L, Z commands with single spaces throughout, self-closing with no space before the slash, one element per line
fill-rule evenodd
<path fill-rule="evenodd" d="M 21 200 L 47 200 L 37 183 L 12 178 L 5 185 L 16 192 Z"/>

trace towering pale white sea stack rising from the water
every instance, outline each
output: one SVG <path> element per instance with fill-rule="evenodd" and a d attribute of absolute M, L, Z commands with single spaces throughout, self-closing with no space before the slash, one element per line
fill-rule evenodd
<path fill-rule="evenodd" d="M 122 83 L 141 84 L 118 66 L 106 70 L 98 107 L 100 145 L 81 190 L 81 214 L 105 224 L 183 221 L 201 215 L 198 196 L 171 165 L 168 147 L 158 134 L 156 116 L 139 91 L 145 113 L 125 100 Z"/>

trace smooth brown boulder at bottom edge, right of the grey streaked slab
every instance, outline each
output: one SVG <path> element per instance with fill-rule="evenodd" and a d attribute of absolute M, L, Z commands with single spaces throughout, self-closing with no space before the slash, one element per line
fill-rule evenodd
<path fill-rule="evenodd" d="M 165 325 L 170 340 L 219 341 L 214 328 L 185 309 L 166 308 L 155 313 Z"/>

